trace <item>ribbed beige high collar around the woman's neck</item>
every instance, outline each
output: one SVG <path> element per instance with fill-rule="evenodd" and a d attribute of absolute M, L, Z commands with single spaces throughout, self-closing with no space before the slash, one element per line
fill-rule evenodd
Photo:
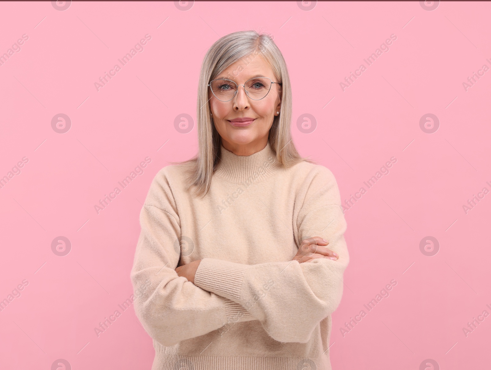
<path fill-rule="evenodd" d="M 258 183 L 281 168 L 269 141 L 264 149 L 250 156 L 238 156 L 220 144 L 219 156 L 214 175 L 235 184 Z"/>

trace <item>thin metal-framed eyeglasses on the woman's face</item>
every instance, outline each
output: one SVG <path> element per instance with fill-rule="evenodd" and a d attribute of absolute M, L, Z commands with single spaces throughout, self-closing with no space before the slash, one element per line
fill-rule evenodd
<path fill-rule="evenodd" d="M 242 86 L 244 86 L 244 90 L 249 98 L 261 100 L 268 95 L 273 83 L 281 85 L 281 82 L 273 82 L 269 77 L 256 77 L 247 80 Z M 213 79 L 208 86 L 210 86 L 213 95 L 218 100 L 228 102 L 235 97 L 241 85 L 237 85 L 231 79 Z"/>

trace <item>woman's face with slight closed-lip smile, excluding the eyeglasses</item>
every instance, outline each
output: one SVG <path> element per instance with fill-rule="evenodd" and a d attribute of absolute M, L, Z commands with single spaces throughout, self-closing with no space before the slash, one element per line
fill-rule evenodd
<path fill-rule="evenodd" d="M 240 72 L 238 72 L 240 71 Z M 232 152 L 242 152 L 262 149 L 268 141 L 268 133 L 273 125 L 276 112 L 280 111 L 281 97 L 280 86 L 277 83 L 271 85 L 268 95 L 261 100 L 254 100 L 247 96 L 242 86 L 248 79 L 253 77 L 269 77 L 273 82 L 279 82 L 273 74 L 273 70 L 260 55 L 252 60 L 241 59 L 231 64 L 216 79 L 231 79 L 239 86 L 235 97 L 228 101 L 218 100 L 209 89 L 210 107 L 215 127 L 222 139 L 225 149 Z M 251 118 L 251 122 L 242 123 L 231 120 L 237 118 Z M 257 150 L 256 150 L 257 151 Z"/>

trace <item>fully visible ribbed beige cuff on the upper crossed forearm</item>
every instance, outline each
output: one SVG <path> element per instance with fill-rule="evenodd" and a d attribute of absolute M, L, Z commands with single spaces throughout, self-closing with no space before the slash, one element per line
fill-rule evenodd
<path fill-rule="evenodd" d="M 194 285 L 240 303 L 242 281 L 248 265 L 204 258 L 194 275 Z"/>

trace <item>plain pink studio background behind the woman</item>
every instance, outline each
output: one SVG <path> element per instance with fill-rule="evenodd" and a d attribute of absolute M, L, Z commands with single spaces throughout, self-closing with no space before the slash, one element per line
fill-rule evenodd
<path fill-rule="evenodd" d="M 307 8 L 308 9 L 308 8 Z M 292 133 L 303 156 L 335 175 L 342 200 L 367 190 L 345 213 L 351 263 L 332 315 L 333 369 L 441 369 L 489 366 L 491 71 L 490 2 L 51 2 L 0 4 L 0 53 L 23 34 L 21 51 L 0 66 L 0 177 L 23 157 L 21 173 L 0 189 L 0 300 L 21 282 L 21 296 L 0 312 L 5 369 L 150 369 L 152 340 L 133 307 L 130 270 L 139 211 L 155 174 L 196 152 L 202 58 L 221 36 L 246 29 L 274 36 L 290 71 Z M 99 91 L 99 77 L 144 37 L 151 40 Z M 391 34 L 397 39 L 355 82 L 354 72 Z M 68 132 L 51 125 L 59 113 Z M 298 120 L 315 117 L 311 133 Z M 420 127 L 426 114 L 439 127 Z M 423 117 L 424 118 L 424 117 Z M 423 119 L 425 121 L 425 119 Z M 301 128 L 301 126 L 300 126 Z M 305 131 L 305 130 L 304 130 Z M 149 157 L 144 173 L 100 211 L 94 205 Z M 391 157 L 397 162 L 370 189 L 363 184 Z M 487 234 L 487 235 L 486 235 Z M 64 236 L 70 253 L 56 255 Z M 427 256 L 420 241 L 436 238 Z M 436 251 L 436 249 L 434 249 Z M 392 279 L 390 295 L 363 304 Z M 94 327 L 122 315 L 99 337 Z M 340 328 L 367 315 L 344 336 Z M 481 317 L 483 318 L 483 317 Z M 434 369 L 437 369 L 434 365 Z"/>

